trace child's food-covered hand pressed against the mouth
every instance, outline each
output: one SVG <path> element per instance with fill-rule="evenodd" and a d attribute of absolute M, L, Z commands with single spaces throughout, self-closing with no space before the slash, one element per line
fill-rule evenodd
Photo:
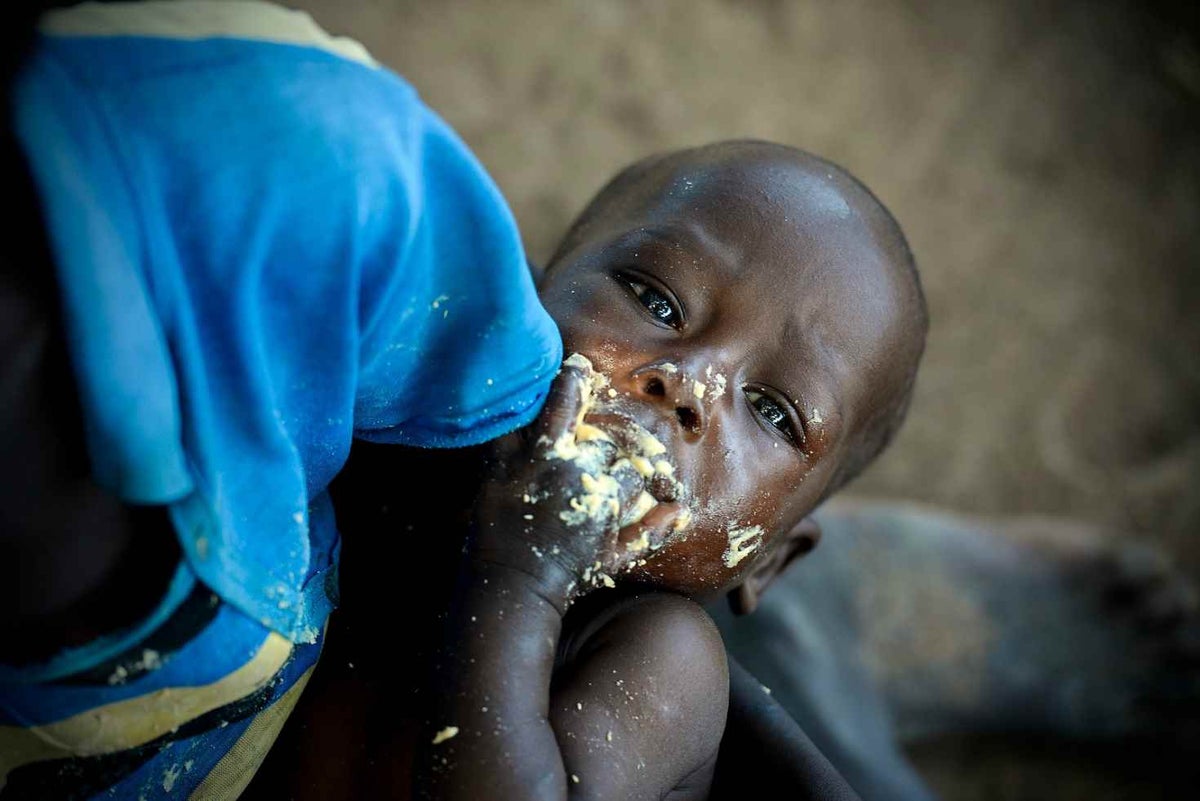
<path fill-rule="evenodd" d="M 577 436 L 590 396 L 588 367 L 568 361 L 538 420 L 496 444 L 474 510 L 472 556 L 532 576 L 556 603 L 612 586 L 611 574 L 637 556 L 624 543 L 670 528 L 679 513 L 676 504 L 659 504 L 619 526 L 643 482 L 613 469 L 611 441 Z"/>

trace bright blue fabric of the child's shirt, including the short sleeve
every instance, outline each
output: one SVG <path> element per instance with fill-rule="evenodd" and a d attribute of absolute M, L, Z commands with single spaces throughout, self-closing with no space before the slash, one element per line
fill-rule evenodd
<path fill-rule="evenodd" d="M 512 216 L 368 58 L 48 31 L 16 131 L 96 480 L 169 505 L 204 584 L 313 642 L 352 438 L 476 444 L 545 398 L 562 342 Z"/>

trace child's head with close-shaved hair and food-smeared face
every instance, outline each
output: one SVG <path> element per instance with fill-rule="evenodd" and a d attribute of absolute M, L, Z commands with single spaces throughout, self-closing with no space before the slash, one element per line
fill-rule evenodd
<path fill-rule="evenodd" d="M 751 607 L 816 543 L 812 510 L 899 426 L 928 327 L 880 201 L 845 170 L 760 141 L 620 173 L 540 295 L 566 351 L 611 381 L 596 424 L 661 441 L 691 512 L 632 576 L 696 596 L 740 585 Z"/>

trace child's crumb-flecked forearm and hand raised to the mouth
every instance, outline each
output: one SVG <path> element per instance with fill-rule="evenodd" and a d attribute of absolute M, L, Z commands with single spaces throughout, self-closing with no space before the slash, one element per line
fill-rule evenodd
<path fill-rule="evenodd" d="M 574 432 L 583 381 L 564 368 L 546 411 L 476 505 L 416 763 L 424 797 L 557 800 L 577 788 L 551 725 L 551 675 L 576 583 L 613 553 L 616 516 L 565 525 L 564 493 L 578 492 L 583 471 L 545 452 Z M 522 502 L 534 494 L 541 500 Z"/>

